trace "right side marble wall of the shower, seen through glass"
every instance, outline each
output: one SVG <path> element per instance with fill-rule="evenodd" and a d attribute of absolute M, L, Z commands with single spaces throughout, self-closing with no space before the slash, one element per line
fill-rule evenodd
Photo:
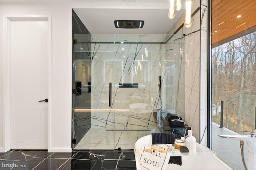
<path fill-rule="evenodd" d="M 185 118 L 185 39 L 172 35 L 166 43 L 166 106 L 172 104 L 169 111 Z M 170 64 L 169 64 L 170 62 Z"/>

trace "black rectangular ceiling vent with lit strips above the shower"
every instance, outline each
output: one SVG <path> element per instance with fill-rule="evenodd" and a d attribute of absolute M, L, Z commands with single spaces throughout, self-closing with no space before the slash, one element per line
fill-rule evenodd
<path fill-rule="evenodd" d="M 137 20 L 115 20 L 116 28 L 142 28 L 144 21 Z"/>

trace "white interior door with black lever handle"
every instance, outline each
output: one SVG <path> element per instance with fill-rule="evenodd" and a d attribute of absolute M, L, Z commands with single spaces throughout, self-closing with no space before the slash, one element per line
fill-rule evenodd
<path fill-rule="evenodd" d="M 10 22 L 10 149 L 48 148 L 47 24 Z"/>

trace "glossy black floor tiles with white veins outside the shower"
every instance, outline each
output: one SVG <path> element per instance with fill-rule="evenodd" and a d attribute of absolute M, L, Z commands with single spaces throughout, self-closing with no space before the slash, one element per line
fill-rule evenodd
<path fill-rule="evenodd" d="M 0 153 L 4 161 L 26 161 L 28 170 L 136 170 L 133 150 L 73 151 L 50 153 L 45 150 L 11 150 Z M 17 168 L 12 168 L 15 170 Z"/>

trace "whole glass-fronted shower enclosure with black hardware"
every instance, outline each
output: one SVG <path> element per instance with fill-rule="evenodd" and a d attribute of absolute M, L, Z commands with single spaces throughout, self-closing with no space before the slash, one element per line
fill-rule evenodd
<path fill-rule="evenodd" d="M 184 116 L 184 38 L 75 34 L 73 149 L 133 149 Z M 184 57 L 183 57 L 184 56 Z"/>

